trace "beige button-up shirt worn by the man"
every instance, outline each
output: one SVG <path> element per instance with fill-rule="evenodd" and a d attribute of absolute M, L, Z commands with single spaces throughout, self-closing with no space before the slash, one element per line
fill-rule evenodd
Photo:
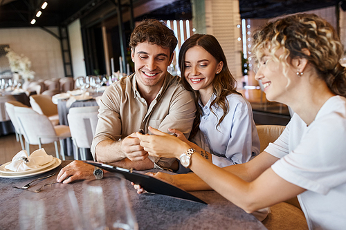
<path fill-rule="evenodd" d="M 104 140 L 118 141 L 148 126 L 169 133 L 167 128 L 176 128 L 188 138 L 192 128 L 196 106 L 192 93 L 181 85 L 181 77 L 170 73 L 155 99 L 148 106 L 137 90 L 136 75 L 123 77 L 109 86 L 100 100 L 98 126 L 91 144 L 91 153 L 97 160 L 102 153 L 95 147 Z M 149 156 L 155 166 L 169 167 L 174 159 Z"/>

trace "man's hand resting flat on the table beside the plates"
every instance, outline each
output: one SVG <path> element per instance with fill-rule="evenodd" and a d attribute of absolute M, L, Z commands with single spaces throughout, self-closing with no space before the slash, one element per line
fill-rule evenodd
<path fill-rule="evenodd" d="M 75 160 L 60 170 L 59 174 L 57 175 L 57 182 L 68 184 L 74 180 L 95 179 L 93 169 L 95 169 L 95 166 L 86 164 L 80 160 Z M 70 178 L 65 180 L 67 177 Z"/>

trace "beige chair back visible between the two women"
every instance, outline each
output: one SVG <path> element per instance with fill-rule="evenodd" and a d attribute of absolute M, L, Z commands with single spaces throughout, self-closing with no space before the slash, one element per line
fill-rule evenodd
<path fill-rule="evenodd" d="M 286 126 L 275 126 L 275 125 L 257 125 L 258 137 L 260 137 L 260 153 L 264 151 L 264 148 L 268 146 L 269 143 L 275 142 L 277 138 L 284 131 Z"/>

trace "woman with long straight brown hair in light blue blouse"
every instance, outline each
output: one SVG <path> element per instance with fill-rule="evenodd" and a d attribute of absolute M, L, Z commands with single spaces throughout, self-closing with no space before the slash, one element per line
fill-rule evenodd
<path fill-rule="evenodd" d="M 183 86 L 194 93 L 197 108 L 190 139 L 197 135 L 201 146 L 188 142 L 175 129 L 170 131 L 204 157 L 210 151 L 212 163 L 220 167 L 242 164 L 258 155 L 260 140 L 251 104 L 236 91 L 237 82 L 219 41 L 212 35 L 192 35 L 181 46 L 179 67 Z"/>

